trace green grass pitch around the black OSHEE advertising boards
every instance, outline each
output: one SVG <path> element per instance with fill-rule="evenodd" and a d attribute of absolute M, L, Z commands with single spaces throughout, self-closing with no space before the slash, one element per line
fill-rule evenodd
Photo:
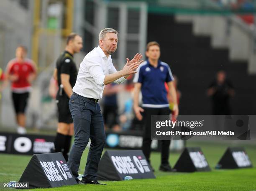
<path fill-rule="evenodd" d="M 228 146 L 244 146 L 256 165 L 256 145 L 244 141 L 239 145 L 226 142 L 193 142 L 187 146 L 200 146 L 210 164 L 212 171 L 195 173 L 164 173 L 158 170 L 160 154 L 152 153 L 152 166 L 156 169 L 156 179 L 130 181 L 103 181 L 101 185 L 74 185 L 60 188 L 38 188 L 32 191 L 256 191 L 256 168 L 236 170 L 215 170 L 214 167 Z M 83 173 L 88 149 L 84 151 L 79 173 Z M 172 166 L 176 163 L 180 153 L 170 154 Z M 10 191 L 3 188 L 3 183 L 18 181 L 28 164 L 31 156 L 0 154 L 0 191 Z M 36 175 L 35 175 L 36 176 Z"/>

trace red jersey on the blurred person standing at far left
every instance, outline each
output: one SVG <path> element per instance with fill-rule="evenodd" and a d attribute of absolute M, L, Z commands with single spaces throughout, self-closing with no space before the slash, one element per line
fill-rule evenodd
<path fill-rule="evenodd" d="M 10 75 L 17 75 L 18 80 L 12 82 L 12 91 L 15 93 L 25 93 L 31 90 L 31 84 L 28 82 L 28 76 L 36 72 L 33 61 L 25 59 L 19 63 L 16 59 L 9 62 L 7 72 Z"/>

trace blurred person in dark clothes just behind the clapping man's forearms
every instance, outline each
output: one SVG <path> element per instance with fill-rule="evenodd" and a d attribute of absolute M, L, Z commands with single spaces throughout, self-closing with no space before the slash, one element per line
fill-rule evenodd
<path fill-rule="evenodd" d="M 122 84 L 108 84 L 105 86 L 103 96 L 103 120 L 105 130 L 120 131 L 118 125 L 118 98 L 117 94 L 122 90 Z"/>

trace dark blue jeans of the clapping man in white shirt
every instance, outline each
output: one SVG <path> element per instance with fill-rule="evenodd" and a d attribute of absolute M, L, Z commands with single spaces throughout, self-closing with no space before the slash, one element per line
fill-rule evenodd
<path fill-rule="evenodd" d="M 86 97 L 72 94 L 69 99 L 69 109 L 74 120 L 74 144 L 67 164 L 74 177 L 77 178 L 82 153 L 90 138 L 91 144 L 83 180 L 96 180 L 98 164 L 106 139 L 100 105 Z"/>

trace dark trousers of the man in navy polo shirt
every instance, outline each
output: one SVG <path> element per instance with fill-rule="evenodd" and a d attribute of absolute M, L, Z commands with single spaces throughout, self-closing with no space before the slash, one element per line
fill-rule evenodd
<path fill-rule="evenodd" d="M 170 109 L 169 107 L 164 108 L 148 108 L 144 107 L 143 112 L 143 120 L 144 120 L 144 127 L 143 127 L 143 143 L 142 143 L 142 151 L 150 163 L 149 157 L 151 153 L 151 115 L 169 115 Z M 169 146 L 171 140 L 161 140 L 161 164 L 169 164 Z"/>

